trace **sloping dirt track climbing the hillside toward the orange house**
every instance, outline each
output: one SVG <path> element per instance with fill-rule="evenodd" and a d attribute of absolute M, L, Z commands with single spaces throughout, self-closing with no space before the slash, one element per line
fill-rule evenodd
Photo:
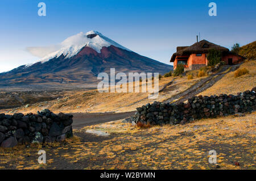
<path fill-rule="evenodd" d="M 212 87 L 214 83 L 219 81 L 224 75 L 228 74 L 230 71 L 234 71 L 237 68 L 239 68 L 241 64 L 232 65 L 232 66 L 223 66 L 222 69 L 216 73 L 212 74 L 209 77 L 206 77 L 204 79 L 201 79 L 199 82 L 195 83 L 192 87 L 189 89 L 180 92 L 179 94 L 176 94 L 175 96 L 172 96 L 170 99 L 165 100 L 166 103 L 181 103 L 185 100 L 192 98 L 192 96 L 195 96 L 199 94 L 200 92 L 203 92 L 204 90 L 207 90 L 209 87 Z"/>

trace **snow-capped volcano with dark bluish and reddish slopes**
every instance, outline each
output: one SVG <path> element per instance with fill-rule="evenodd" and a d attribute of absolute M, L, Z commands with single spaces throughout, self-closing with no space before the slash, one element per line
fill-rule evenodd
<path fill-rule="evenodd" d="M 90 31 L 71 36 L 61 48 L 35 64 L 22 65 L 0 74 L 0 86 L 36 83 L 81 84 L 96 83 L 100 72 L 152 72 L 164 74 L 172 66 L 141 56 Z"/>

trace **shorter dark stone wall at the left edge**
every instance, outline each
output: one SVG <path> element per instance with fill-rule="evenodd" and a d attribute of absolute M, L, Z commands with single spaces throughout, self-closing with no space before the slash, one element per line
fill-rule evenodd
<path fill-rule="evenodd" d="M 72 115 L 43 110 L 37 114 L 0 114 L 0 146 L 13 147 L 18 144 L 61 142 L 72 137 Z"/>

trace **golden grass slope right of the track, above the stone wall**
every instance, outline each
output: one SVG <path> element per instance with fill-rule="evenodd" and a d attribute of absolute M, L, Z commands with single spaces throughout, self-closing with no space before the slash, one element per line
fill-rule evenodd
<path fill-rule="evenodd" d="M 256 61 L 246 61 L 240 68 L 246 68 L 249 70 L 249 74 L 235 78 L 234 72 L 230 72 L 199 95 L 237 94 L 237 92 L 253 89 L 256 86 Z"/>

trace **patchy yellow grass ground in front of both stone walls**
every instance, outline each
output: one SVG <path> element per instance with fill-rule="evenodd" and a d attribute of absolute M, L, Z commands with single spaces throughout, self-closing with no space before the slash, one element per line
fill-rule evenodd
<path fill-rule="evenodd" d="M 37 162 L 42 145 L 0 148 L 0 166 L 14 169 L 68 166 L 77 169 L 216 169 L 208 162 L 209 150 L 216 150 L 220 169 L 256 169 L 255 120 L 254 112 L 244 117 L 219 117 L 147 129 L 113 121 L 75 131 L 81 137 L 87 129 L 110 133 L 104 140 L 81 141 L 75 137 L 65 143 L 46 145 L 43 148 L 47 153 L 46 165 Z"/>

